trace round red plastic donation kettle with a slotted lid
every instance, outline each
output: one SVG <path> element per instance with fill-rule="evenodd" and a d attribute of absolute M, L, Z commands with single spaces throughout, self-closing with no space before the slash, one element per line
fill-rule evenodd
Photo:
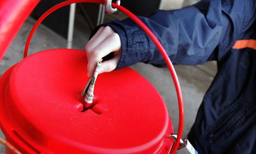
<path fill-rule="evenodd" d="M 31 31 L 54 10 L 40 18 Z M 40 51 L 12 66 L 0 78 L 0 127 L 22 153 L 167 154 L 173 127 L 156 89 L 131 68 L 100 74 L 93 105 L 80 96 L 88 81 L 86 52 Z M 12 153 L 6 149 L 6 153 Z"/>

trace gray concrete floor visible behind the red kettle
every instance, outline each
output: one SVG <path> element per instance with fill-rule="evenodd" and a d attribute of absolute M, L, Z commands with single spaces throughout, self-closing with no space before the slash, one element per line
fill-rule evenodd
<path fill-rule="evenodd" d="M 107 19 L 111 18 L 106 17 L 106 20 Z M 14 38 L 14 41 L 0 63 L 0 75 L 2 75 L 9 67 L 22 60 L 26 38 L 28 37 L 28 33 L 34 23 L 35 21 L 33 19 L 28 18 L 21 27 L 19 33 Z M 89 29 L 88 25 L 83 18 L 79 17 L 78 14 L 75 21 L 73 48 L 81 50 L 84 49 L 91 33 L 86 29 Z M 66 48 L 66 40 L 47 27 L 41 25 L 33 36 L 29 48 L 29 54 L 51 48 Z M 175 87 L 168 69 L 156 68 L 144 63 L 138 63 L 131 66 L 131 68 L 142 74 L 159 91 L 168 108 L 168 112 L 173 122 L 174 131 L 177 132 L 178 103 Z M 183 137 L 185 137 L 194 123 L 195 116 L 204 93 L 216 74 L 216 63 L 208 62 L 204 65 L 195 66 L 176 65 L 175 69 L 183 92 L 185 111 Z M 1 131 L 0 136 L 4 137 Z M 3 153 L 4 147 L 0 145 L 0 154 Z"/>

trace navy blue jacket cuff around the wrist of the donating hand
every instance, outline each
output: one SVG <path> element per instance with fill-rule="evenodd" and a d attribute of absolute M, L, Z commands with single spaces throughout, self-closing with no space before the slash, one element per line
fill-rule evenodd
<path fill-rule="evenodd" d="M 114 29 L 121 39 L 122 53 L 116 69 L 143 62 L 148 43 L 145 34 L 137 26 L 119 20 L 103 25 Z"/>

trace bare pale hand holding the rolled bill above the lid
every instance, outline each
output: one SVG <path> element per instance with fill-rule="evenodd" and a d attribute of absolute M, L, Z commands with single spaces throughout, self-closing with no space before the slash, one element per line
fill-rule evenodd
<path fill-rule="evenodd" d="M 114 70 L 121 57 L 121 40 L 119 35 L 109 26 L 102 26 L 85 46 L 87 54 L 87 76 L 91 77 L 97 62 L 104 56 L 113 52 L 114 57 L 102 62 L 99 74 Z"/>

